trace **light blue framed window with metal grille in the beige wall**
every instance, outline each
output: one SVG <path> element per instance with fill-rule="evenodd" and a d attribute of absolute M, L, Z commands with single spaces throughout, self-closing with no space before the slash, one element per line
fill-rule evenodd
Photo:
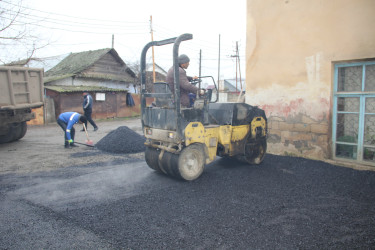
<path fill-rule="evenodd" d="M 333 155 L 375 165 L 375 61 L 337 64 Z"/>

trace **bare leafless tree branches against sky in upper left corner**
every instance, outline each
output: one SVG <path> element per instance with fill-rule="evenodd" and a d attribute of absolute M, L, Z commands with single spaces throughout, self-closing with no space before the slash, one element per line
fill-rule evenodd
<path fill-rule="evenodd" d="M 0 0 L 0 63 L 23 58 L 23 65 L 27 65 L 31 60 L 40 60 L 35 54 L 48 43 L 41 44 L 28 16 L 22 0 Z"/>

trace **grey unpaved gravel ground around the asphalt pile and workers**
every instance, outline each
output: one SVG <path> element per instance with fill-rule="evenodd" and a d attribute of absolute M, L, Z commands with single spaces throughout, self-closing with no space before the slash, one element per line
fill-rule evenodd
<path fill-rule="evenodd" d="M 99 130 L 96 132 L 88 125 L 89 137 L 94 143 L 97 143 L 109 132 L 120 126 L 127 126 L 142 134 L 139 118 L 98 121 L 97 124 Z M 86 135 L 84 132 L 80 132 L 81 126 L 76 124 L 75 129 L 75 140 L 84 143 Z M 65 149 L 63 143 L 63 132 L 57 124 L 29 126 L 25 137 L 21 140 L 0 144 L 0 174 L 48 171 L 94 162 L 96 164 L 103 162 L 104 164 L 109 160 L 129 157 L 129 155 L 103 153 L 96 148 L 82 145 L 73 149 Z M 143 158 L 144 155 L 143 153 L 138 153 L 131 155 L 131 157 Z"/>

